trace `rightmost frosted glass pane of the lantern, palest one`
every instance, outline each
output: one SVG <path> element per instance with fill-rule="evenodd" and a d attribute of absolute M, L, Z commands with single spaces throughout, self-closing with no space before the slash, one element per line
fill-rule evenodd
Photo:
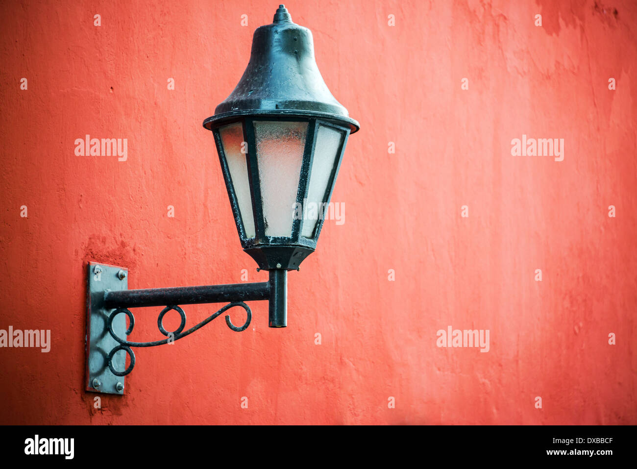
<path fill-rule="evenodd" d="M 343 140 L 343 132 L 331 127 L 318 127 L 317 144 L 310 172 L 308 199 L 303 207 L 303 230 L 301 235 L 311 238 L 318 220 L 327 215 L 323 198 L 332 175 L 338 148 Z"/>

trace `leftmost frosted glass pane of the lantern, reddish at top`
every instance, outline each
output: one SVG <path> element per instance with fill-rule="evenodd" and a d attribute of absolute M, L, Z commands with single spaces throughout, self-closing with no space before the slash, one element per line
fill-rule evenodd
<path fill-rule="evenodd" d="M 225 161 L 233 180 L 234 195 L 237 198 L 243 229 L 247 238 L 254 238 L 254 217 L 252 216 L 252 199 L 248 182 L 248 164 L 245 153 L 241 153 L 243 145 L 243 126 L 241 122 L 230 124 L 219 129 L 219 136 L 224 145 Z"/>

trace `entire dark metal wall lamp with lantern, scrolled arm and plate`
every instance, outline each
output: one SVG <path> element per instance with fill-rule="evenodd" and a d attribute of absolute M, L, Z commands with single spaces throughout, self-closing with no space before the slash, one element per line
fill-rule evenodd
<path fill-rule="evenodd" d="M 268 326 L 287 326 L 287 271 L 298 270 L 316 248 L 347 138 L 359 124 L 327 89 L 310 30 L 294 24 L 285 6 L 276 10 L 272 24 L 256 29 L 241 80 L 203 126 L 215 138 L 241 246 L 259 269 L 269 271 L 269 280 L 128 290 L 124 268 L 89 263 L 87 391 L 124 393 L 124 376 L 135 364 L 131 347 L 178 340 L 231 307 L 244 308 L 247 321 L 237 327 L 226 315 L 227 325 L 245 330 L 252 312 L 244 301 L 268 300 Z M 224 302 L 215 314 L 183 330 L 186 317 L 178 305 Z M 157 326 L 167 338 L 124 340 L 134 327 L 130 308 L 151 306 L 165 306 Z M 181 318 L 172 332 L 162 325 L 170 310 Z M 120 350 L 131 359 L 124 371 Z"/>

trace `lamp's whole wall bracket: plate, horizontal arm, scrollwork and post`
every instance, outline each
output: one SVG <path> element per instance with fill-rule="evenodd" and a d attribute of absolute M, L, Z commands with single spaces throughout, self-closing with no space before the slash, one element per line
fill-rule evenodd
<path fill-rule="evenodd" d="M 269 271 L 268 282 L 255 282 L 249 284 L 229 285 L 201 285 L 196 287 L 171 287 L 127 290 L 125 285 L 117 284 L 113 277 L 124 280 L 124 270 L 105 266 L 104 264 L 91 264 L 89 270 L 89 312 L 87 324 L 87 390 L 104 393 L 120 394 L 124 391 L 123 381 L 125 375 L 131 373 L 135 366 L 135 354 L 131 347 L 155 347 L 172 343 L 193 332 L 201 329 L 226 310 L 232 307 L 242 307 L 247 313 L 247 319 L 243 326 L 234 326 L 229 315 L 225 316 L 225 322 L 233 331 L 245 331 L 252 320 L 252 311 L 244 301 L 269 301 L 269 322 L 271 328 L 285 328 L 287 326 L 287 271 Z M 117 274 L 113 272 L 117 271 Z M 105 278 L 102 278 L 102 275 Z M 115 282 L 115 283 L 113 283 Z M 127 282 L 125 282 L 127 284 Z M 120 289 L 110 288 L 116 286 Z M 199 322 L 187 331 L 183 331 L 186 325 L 186 315 L 178 305 L 195 305 L 202 303 L 226 303 L 215 314 L 210 315 L 204 321 Z M 165 306 L 157 318 L 159 331 L 167 338 L 154 342 L 129 342 L 123 336 L 131 334 L 135 325 L 135 317 L 129 308 Z M 175 331 L 164 329 L 162 320 L 170 310 L 175 310 L 181 317 L 180 325 Z M 129 326 L 125 327 L 125 314 L 129 318 Z M 125 331 L 124 331 L 125 329 Z M 108 331 L 108 334 L 106 333 Z M 106 336 L 105 336 L 106 335 Z M 111 339 L 108 338 L 110 335 Z M 113 340 L 115 342 L 113 342 Z M 117 370 L 113 361 L 117 361 L 118 367 L 123 368 L 123 357 L 114 360 L 115 354 L 124 350 L 131 361 L 124 371 Z M 96 360 L 95 356 L 102 359 Z M 110 372 L 110 373 L 109 373 Z M 120 377 L 120 378 L 117 378 Z M 108 389 L 107 389 L 108 388 Z M 111 388 L 114 388 L 111 389 Z"/>

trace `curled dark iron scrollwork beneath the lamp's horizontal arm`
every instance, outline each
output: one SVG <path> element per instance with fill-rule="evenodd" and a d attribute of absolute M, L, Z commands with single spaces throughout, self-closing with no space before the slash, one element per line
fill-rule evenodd
<path fill-rule="evenodd" d="M 155 340 L 154 342 L 129 342 L 128 340 L 124 340 L 118 337 L 117 334 L 115 334 L 115 331 L 113 331 L 113 319 L 115 319 L 115 316 L 121 313 L 124 313 L 125 315 L 128 316 L 130 324 L 128 326 L 128 329 L 125 332 L 126 335 L 131 334 L 132 328 L 134 328 L 135 326 L 135 317 L 134 315 L 132 315 L 129 309 L 117 308 L 108 316 L 108 320 L 106 321 L 106 327 L 108 328 L 108 332 L 120 344 L 120 345 L 117 345 L 117 347 L 115 347 L 113 350 L 111 350 L 108 353 L 108 356 L 106 356 L 106 363 L 108 364 L 108 368 L 111 370 L 111 373 L 113 373 L 113 375 L 125 376 L 129 374 L 130 372 L 132 372 L 132 368 L 135 366 L 135 354 L 133 353 L 131 347 L 155 347 L 156 345 L 164 345 L 164 343 L 174 342 L 175 340 L 183 338 L 187 335 L 192 334 L 194 331 L 197 331 L 203 328 L 203 326 L 205 326 L 206 324 L 208 324 L 208 322 L 215 319 L 218 315 L 224 313 L 226 310 L 229 310 L 230 308 L 235 306 L 240 306 L 241 308 L 245 309 L 245 312 L 247 313 L 247 316 L 248 316 L 245 321 L 245 324 L 239 327 L 235 326 L 233 322 L 230 320 L 230 316 L 227 314 L 225 315 L 225 324 L 227 324 L 227 326 L 230 329 L 233 329 L 233 331 L 235 332 L 245 331 L 245 329 L 247 329 L 248 326 L 250 326 L 250 321 L 252 321 L 252 311 L 250 310 L 250 307 L 248 307 L 248 305 L 243 303 L 243 301 L 234 301 L 233 303 L 228 303 L 223 308 L 218 310 L 215 314 L 207 317 L 203 321 L 199 322 L 199 324 L 192 326 L 192 328 L 188 329 L 185 332 L 182 332 L 183 328 L 185 328 L 186 326 L 185 312 L 183 312 L 182 308 L 178 307 L 177 305 L 169 305 L 166 308 L 162 309 L 161 313 L 159 313 L 159 317 L 157 317 L 157 328 L 159 328 L 159 331 L 163 335 L 167 336 L 168 338 L 165 338 L 164 340 Z M 164 329 L 164 324 L 163 324 L 164 315 L 166 315 L 166 313 L 168 313 L 170 310 L 175 310 L 176 312 L 178 312 L 181 318 L 179 327 L 172 332 L 166 331 L 166 329 Z M 119 350 L 124 350 L 128 354 L 128 356 L 131 357 L 131 364 L 129 364 L 128 368 L 126 368 L 126 370 L 124 370 L 123 372 L 119 372 L 115 370 L 115 368 L 113 367 L 113 356 L 115 356 L 115 353 L 117 353 Z"/>

